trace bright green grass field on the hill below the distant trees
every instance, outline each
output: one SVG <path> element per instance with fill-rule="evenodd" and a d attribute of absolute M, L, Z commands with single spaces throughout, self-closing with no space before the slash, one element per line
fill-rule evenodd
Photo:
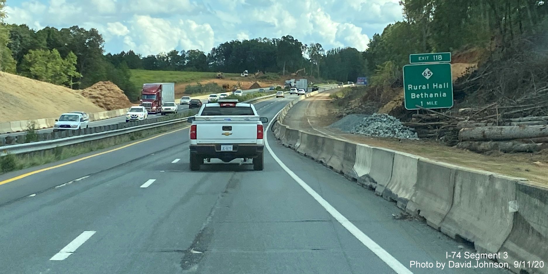
<path fill-rule="evenodd" d="M 198 71 L 157 71 L 157 70 L 130 70 L 132 76 L 130 81 L 135 87 L 141 89 L 144 83 L 191 83 L 198 81 L 214 79 L 216 72 L 198 72 Z M 239 78 L 237 73 L 224 73 L 225 78 Z"/>

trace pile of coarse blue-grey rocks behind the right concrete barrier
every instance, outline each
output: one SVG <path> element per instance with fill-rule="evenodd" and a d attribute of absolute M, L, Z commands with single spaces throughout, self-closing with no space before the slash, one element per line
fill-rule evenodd
<path fill-rule="evenodd" d="M 376 137 L 391 137 L 398 139 L 419 140 L 416 132 L 402 125 L 396 117 L 374 113 L 364 117 L 360 123 L 350 130 L 352 134 L 360 134 Z"/>

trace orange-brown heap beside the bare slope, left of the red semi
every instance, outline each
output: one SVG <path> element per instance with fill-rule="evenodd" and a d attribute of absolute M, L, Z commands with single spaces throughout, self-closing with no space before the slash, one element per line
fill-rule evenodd
<path fill-rule="evenodd" d="M 105 110 L 119 110 L 132 106 L 123 90 L 115 83 L 102 81 L 82 90 L 82 95 Z"/>

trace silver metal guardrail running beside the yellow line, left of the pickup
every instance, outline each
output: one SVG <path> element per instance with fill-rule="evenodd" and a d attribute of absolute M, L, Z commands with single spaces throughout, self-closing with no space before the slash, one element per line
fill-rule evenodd
<path fill-rule="evenodd" d="M 273 96 L 276 96 L 276 94 L 265 95 L 258 98 L 246 100 L 243 102 L 249 103 L 249 102 L 253 102 L 261 99 L 270 98 Z M 66 138 L 59 138 L 59 139 L 53 139 L 53 140 L 28 142 L 24 144 L 3 146 L 2 147 L 3 150 L 2 150 L 2 153 L 0 153 L 0 156 L 5 156 L 8 154 L 17 155 L 17 154 L 36 152 L 41 150 L 49 150 L 59 146 L 75 145 L 82 142 L 94 141 L 98 139 L 104 139 L 104 138 L 109 138 L 113 136 L 138 132 L 140 130 L 164 127 L 165 125 L 172 125 L 176 123 L 186 122 L 190 117 L 193 117 L 193 116 L 169 119 L 167 121 L 150 123 L 150 124 L 135 125 L 133 127 L 127 127 L 127 128 L 121 128 L 121 129 L 106 130 L 105 132 L 99 132 L 99 133 L 90 133 L 85 135 L 70 136 Z"/>

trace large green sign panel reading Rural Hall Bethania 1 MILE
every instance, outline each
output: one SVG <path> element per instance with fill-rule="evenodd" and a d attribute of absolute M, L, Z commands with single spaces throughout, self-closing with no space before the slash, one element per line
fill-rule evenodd
<path fill-rule="evenodd" d="M 405 107 L 418 110 L 446 109 L 453 106 L 451 64 L 416 64 L 403 66 Z"/>

